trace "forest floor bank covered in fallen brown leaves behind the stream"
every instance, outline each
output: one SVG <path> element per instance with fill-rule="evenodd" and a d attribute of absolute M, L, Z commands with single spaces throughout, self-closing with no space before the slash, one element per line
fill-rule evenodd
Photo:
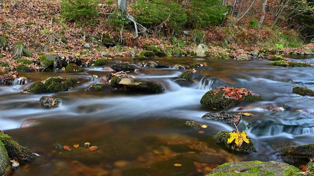
<path fill-rule="evenodd" d="M 78 27 L 75 22 L 68 22 L 61 16 L 59 0 L 0 1 L 0 35 L 4 35 L 7 42 L 6 47 L 1 46 L 0 48 L 0 63 L 9 63 L 11 69 L 21 64 L 17 63 L 17 59 L 14 59 L 15 46 L 19 42 L 24 43 L 28 51 L 32 53 L 31 57 L 22 56 L 22 58 L 34 61 L 35 63 L 31 67 L 35 70 L 41 68 L 40 64 L 36 64 L 36 61 L 38 62 L 43 53 L 71 56 L 73 59 L 79 57 L 84 62 L 104 58 L 101 55 L 102 51 L 106 51 L 114 57 L 130 56 L 133 48 L 140 51 L 143 49 L 144 43 L 158 45 L 164 51 L 167 48 L 173 48 L 176 41 L 185 41 L 181 47 L 182 50 L 193 51 L 195 44 L 197 44 L 191 36 L 184 34 L 176 37 L 147 34 L 134 39 L 132 30 L 112 29 L 106 23 L 114 4 L 111 6 L 100 4 L 98 7 L 100 11 L 100 15 L 96 19 L 98 23 L 94 26 Z M 132 29 L 132 25 L 128 27 Z M 268 29 L 256 30 L 245 27 L 245 23 L 241 27 L 209 27 L 204 30 L 204 33 L 204 43 L 210 46 L 209 51 L 213 52 L 214 55 L 225 52 L 230 58 L 233 58 L 266 47 L 269 50 L 276 49 L 274 45 L 266 46 L 264 44 L 268 38 L 273 37 L 274 33 Z M 103 47 L 89 41 L 90 36 L 100 38 L 105 34 L 109 34 L 111 38 L 115 38 L 116 41 L 120 40 L 124 44 Z M 63 36 L 66 38 L 66 42 L 61 42 Z M 177 40 L 174 41 L 174 38 Z M 82 48 L 87 42 L 92 45 L 93 49 Z M 281 49 L 283 53 L 308 50 L 314 50 L 314 43 L 297 48 L 284 47 Z M 8 67 L 2 67 L 2 69 L 8 70 Z"/>

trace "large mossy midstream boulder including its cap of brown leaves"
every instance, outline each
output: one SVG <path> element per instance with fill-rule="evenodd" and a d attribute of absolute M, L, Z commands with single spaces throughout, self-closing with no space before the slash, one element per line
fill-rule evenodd
<path fill-rule="evenodd" d="M 201 104 L 217 110 L 228 110 L 242 101 L 262 101 L 257 93 L 246 88 L 221 87 L 206 92 Z"/>

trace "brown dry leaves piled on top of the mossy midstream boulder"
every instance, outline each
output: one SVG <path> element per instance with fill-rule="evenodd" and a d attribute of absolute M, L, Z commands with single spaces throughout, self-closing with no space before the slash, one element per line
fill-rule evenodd
<path fill-rule="evenodd" d="M 236 87 L 228 87 L 224 86 L 218 89 L 213 90 L 213 94 L 215 95 L 218 93 L 220 90 L 224 90 L 225 92 L 222 94 L 223 97 L 225 98 L 230 98 L 230 99 L 235 99 L 238 101 L 242 100 L 242 96 L 247 96 L 251 93 L 250 90 L 246 88 L 236 88 Z"/>

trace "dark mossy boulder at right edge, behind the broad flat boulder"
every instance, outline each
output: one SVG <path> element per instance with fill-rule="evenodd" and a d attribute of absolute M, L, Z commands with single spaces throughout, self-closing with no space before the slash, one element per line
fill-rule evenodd
<path fill-rule="evenodd" d="M 306 163 L 313 157 L 314 143 L 305 145 L 288 145 L 280 149 L 283 160 L 292 163 Z"/>

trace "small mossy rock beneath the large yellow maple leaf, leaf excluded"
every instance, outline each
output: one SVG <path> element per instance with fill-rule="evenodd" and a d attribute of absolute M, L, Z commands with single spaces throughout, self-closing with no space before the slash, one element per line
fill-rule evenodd
<path fill-rule="evenodd" d="M 249 143 L 246 143 L 245 141 L 242 142 L 240 146 L 238 146 L 235 141 L 232 141 L 231 143 L 228 143 L 228 138 L 230 134 L 228 131 L 219 131 L 215 136 L 214 140 L 224 145 L 226 148 L 228 148 L 230 151 L 236 151 L 241 153 L 251 153 L 256 152 L 257 149 L 253 144 L 253 140 L 250 137 L 247 137 L 249 140 Z"/>

